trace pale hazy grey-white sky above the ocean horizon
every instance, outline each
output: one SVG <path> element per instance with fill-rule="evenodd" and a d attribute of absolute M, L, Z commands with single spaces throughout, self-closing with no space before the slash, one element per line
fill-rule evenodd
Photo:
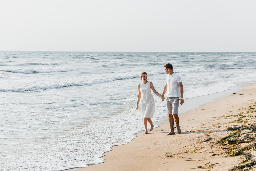
<path fill-rule="evenodd" d="M 8 0 L 1 51 L 256 52 L 255 0 Z"/>

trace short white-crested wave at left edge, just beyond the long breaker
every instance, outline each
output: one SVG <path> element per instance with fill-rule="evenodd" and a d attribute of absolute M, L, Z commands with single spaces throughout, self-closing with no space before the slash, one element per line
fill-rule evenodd
<path fill-rule="evenodd" d="M 36 68 L 17 68 L 17 69 L 6 69 L 1 70 L 5 72 L 32 74 L 32 73 L 49 73 L 49 72 L 66 72 L 71 69 L 63 66 L 48 66 L 48 67 L 36 67 Z"/>

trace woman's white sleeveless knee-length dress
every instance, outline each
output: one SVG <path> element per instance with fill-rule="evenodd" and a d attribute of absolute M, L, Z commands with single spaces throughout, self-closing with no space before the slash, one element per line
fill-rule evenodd
<path fill-rule="evenodd" d="M 141 99 L 138 106 L 138 112 L 143 118 L 153 117 L 156 110 L 149 84 L 149 81 L 146 84 L 140 83 Z"/>

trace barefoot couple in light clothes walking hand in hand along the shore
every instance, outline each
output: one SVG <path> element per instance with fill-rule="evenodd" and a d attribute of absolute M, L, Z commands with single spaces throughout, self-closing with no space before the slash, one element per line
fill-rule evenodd
<path fill-rule="evenodd" d="M 140 74 L 142 83 L 138 85 L 139 94 L 138 94 L 136 110 L 138 110 L 140 115 L 144 118 L 143 122 L 145 126 L 145 132 L 143 134 L 148 133 L 147 122 L 150 123 L 150 131 L 154 129 L 154 125 L 151 121 L 151 117 L 153 117 L 155 113 L 155 103 L 154 103 L 154 98 L 151 95 L 151 89 L 158 97 L 161 97 L 163 101 L 165 100 L 165 103 L 166 103 L 166 108 L 169 116 L 170 129 L 171 129 L 171 131 L 166 135 L 174 134 L 174 128 L 173 128 L 174 121 L 176 122 L 177 132 L 181 133 L 181 129 L 179 126 L 178 107 L 179 107 L 179 102 L 180 104 L 184 103 L 182 81 L 180 76 L 173 72 L 172 64 L 167 63 L 164 66 L 164 71 L 166 72 L 167 76 L 166 76 L 166 84 L 165 84 L 162 95 L 155 90 L 153 83 L 147 80 L 146 72 L 142 72 Z M 164 97 L 165 93 L 166 93 L 166 96 Z"/>

